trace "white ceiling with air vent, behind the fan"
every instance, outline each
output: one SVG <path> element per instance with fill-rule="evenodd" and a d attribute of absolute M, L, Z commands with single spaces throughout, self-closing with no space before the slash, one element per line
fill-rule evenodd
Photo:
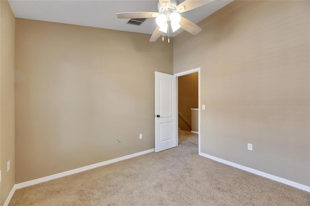
<path fill-rule="evenodd" d="M 181 16 L 197 23 L 232 1 L 214 0 L 182 13 Z M 9 0 L 9 3 L 18 18 L 146 34 L 152 34 L 157 27 L 155 18 L 149 18 L 140 26 L 136 26 L 126 24 L 129 19 L 118 19 L 115 13 L 158 12 L 158 0 Z M 183 29 L 178 29 L 171 33 L 171 36 L 182 31 Z"/>

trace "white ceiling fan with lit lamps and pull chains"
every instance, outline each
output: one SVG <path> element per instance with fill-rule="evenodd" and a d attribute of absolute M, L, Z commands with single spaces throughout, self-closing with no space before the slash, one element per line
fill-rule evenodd
<path fill-rule="evenodd" d="M 170 26 L 173 32 L 180 27 L 194 35 L 201 32 L 202 29 L 200 27 L 182 17 L 180 14 L 198 8 L 211 1 L 212 0 L 185 0 L 179 4 L 178 0 L 159 0 L 157 5 L 158 12 L 128 12 L 117 13 L 116 15 L 118 18 L 156 18 L 157 28 L 150 39 L 150 42 L 155 42 L 163 32 L 168 32 L 169 35 Z"/>

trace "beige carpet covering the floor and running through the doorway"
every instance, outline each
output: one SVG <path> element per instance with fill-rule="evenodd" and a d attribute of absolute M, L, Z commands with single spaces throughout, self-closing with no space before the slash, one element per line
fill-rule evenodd
<path fill-rule="evenodd" d="M 198 155 L 198 135 L 179 146 L 16 190 L 9 206 L 310 206 L 310 193 Z"/>

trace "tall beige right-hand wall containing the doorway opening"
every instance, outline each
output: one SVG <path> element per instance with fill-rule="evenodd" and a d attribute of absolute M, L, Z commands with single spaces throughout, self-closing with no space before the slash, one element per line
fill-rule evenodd
<path fill-rule="evenodd" d="M 233 1 L 174 38 L 174 74 L 201 67 L 203 153 L 310 186 L 309 8 Z"/>

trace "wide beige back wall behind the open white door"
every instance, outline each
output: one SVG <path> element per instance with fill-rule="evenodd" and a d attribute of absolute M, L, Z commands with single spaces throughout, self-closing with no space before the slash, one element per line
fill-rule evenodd
<path fill-rule="evenodd" d="M 150 37 L 16 18 L 16 183 L 154 148 Z"/>

